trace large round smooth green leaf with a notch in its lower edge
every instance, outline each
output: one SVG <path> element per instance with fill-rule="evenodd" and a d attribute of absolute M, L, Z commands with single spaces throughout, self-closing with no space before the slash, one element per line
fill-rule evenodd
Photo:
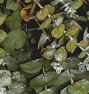
<path fill-rule="evenodd" d="M 14 30 L 8 33 L 7 39 L 2 43 L 7 51 L 21 49 L 26 40 L 26 33 L 21 30 Z"/>

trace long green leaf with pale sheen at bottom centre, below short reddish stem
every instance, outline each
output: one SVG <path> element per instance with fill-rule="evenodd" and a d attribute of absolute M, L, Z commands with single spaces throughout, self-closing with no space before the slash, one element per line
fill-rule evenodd
<path fill-rule="evenodd" d="M 49 85 L 52 84 L 53 81 L 57 79 L 57 77 L 58 77 L 58 74 L 56 72 L 49 71 L 49 72 L 46 72 L 45 75 L 40 74 L 37 77 L 33 78 L 30 81 L 30 86 L 32 88 L 44 87 L 48 84 Z"/>

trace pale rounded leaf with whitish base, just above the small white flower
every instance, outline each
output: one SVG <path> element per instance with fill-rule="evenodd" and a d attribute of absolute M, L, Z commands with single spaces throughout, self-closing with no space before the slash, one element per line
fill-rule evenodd
<path fill-rule="evenodd" d="M 54 58 L 56 61 L 64 61 L 67 58 L 67 51 L 64 47 L 59 48 L 54 53 Z"/>

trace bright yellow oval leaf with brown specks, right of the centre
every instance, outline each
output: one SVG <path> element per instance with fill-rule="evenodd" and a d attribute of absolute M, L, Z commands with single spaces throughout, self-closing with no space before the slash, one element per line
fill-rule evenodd
<path fill-rule="evenodd" d="M 65 25 L 64 24 L 59 24 L 57 27 L 55 27 L 51 31 L 51 35 L 52 35 L 52 37 L 58 39 L 64 34 L 64 30 L 65 30 Z"/>

